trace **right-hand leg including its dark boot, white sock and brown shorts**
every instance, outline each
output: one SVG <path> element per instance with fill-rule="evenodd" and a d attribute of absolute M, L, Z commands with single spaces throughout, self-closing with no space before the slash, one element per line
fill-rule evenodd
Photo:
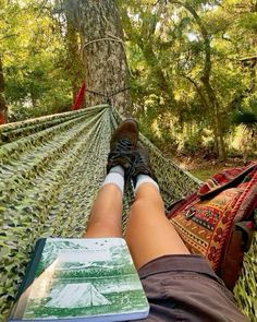
<path fill-rule="evenodd" d="M 140 145 L 132 175 L 135 202 L 126 241 L 150 303 L 146 321 L 174 321 L 178 312 L 186 321 L 245 321 L 208 262 L 189 254 L 166 217 L 149 157 Z"/>

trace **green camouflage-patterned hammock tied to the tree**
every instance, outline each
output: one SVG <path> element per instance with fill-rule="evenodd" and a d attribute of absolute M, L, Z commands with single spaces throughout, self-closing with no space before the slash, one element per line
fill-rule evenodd
<path fill-rule="evenodd" d="M 109 141 L 122 120 L 101 105 L 0 128 L 0 320 L 13 302 L 39 237 L 81 237 L 105 175 Z M 144 135 L 167 206 L 200 181 L 164 158 Z M 125 226 L 133 188 L 124 198 Z M 256 242 L 245 255 L 235 295 L 254 319 Z"/>

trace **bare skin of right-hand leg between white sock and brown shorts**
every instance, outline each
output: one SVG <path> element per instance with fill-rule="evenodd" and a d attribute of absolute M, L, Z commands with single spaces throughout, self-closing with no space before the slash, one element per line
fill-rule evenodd
<path fill-rule="evenodd" d="M 189 254 L 164 215 L 158 188 L 150 182 L 142 183 L 136 191 L 125 239 L 137 270 L 162 255 Z"/>

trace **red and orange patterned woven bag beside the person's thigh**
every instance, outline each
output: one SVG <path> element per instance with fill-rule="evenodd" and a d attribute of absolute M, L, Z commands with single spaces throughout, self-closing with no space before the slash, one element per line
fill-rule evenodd
<path fill-rule="evenodd" d="M 234 224 L 248 220 L 254 208 L 257 163 L 215 175 L 168 217 L 189 251 L 203 254 L 219 273 Z"/>

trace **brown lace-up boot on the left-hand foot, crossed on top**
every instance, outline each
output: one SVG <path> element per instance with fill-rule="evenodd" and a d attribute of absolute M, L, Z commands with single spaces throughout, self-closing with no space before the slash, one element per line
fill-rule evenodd
<path fill-rule="evenodd" d="M 107 174 L 114 166 L 122 166 L 127 179 L 127 170 L 131 168 L 133 152 L 138 140 L 138 126 L 133 119 L 121 122 L 111 136 L 110 153 L 108 155 Z"/>

